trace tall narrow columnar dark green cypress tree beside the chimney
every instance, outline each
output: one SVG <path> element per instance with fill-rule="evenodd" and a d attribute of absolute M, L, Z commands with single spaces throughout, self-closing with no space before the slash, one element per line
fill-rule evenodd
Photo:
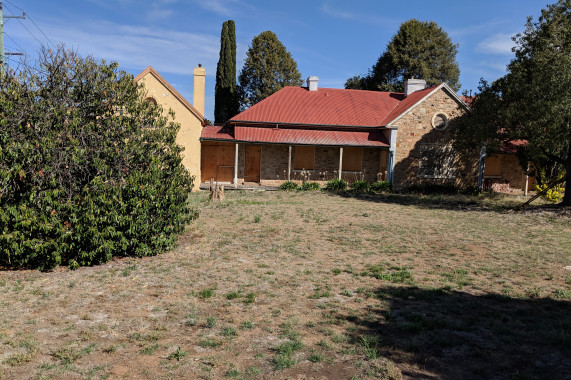
<path fill-rule="evenodd" d="M 214 89 L 214 122 L 224 123 L 238 113 L 236 94 L 236 26 L 224 21 L 220 34 L 220 58 Z"/>

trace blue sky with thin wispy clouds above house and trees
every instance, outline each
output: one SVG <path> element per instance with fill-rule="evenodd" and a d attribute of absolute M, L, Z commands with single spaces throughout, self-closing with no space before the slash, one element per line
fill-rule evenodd
<path fill-rule="evenodd" d="M 537 18 L 547 0 L 3 0 L 6 51 L 37 57 L 40 43 L 64 43 L 82 55 L 119 62 L 137 75 L 153 66 L 192 102 L 192 70 L 206 69 L 206 117 L 214 115 L 214 82 L 222 22 L 236 22 L 240 71 L 252 38 L 277 34 L 303 78 L 320 87 L 343 88 L 366 73 L 399 25 L 411 18 L 435 21 L 459 44 L 462 90 L 476 90 L 481 77 L 505 74 L 513 57 L 510 39 Z M 19 9 L 20 8 L 20 9 Z M 37 25 L 37 27 L 36 27 Z M 50 42 L 48 42 L 48 39 Z M 19 58 L 10 57 L 11 65 Z M 30 58 L 27 58 L 28 60 Z"/>

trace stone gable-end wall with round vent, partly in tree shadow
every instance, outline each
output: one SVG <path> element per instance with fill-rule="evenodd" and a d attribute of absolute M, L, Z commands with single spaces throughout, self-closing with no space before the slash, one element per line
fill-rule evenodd
<path fill-rule="evenodd" d="M 428 183 L 452 183 L 459 187 L 477 184 L 477 156 L 465 159 L 458 155 L 455 178 L 419 177 L 421 147 L 424 144 L 451 144 L 450 126 L 444 130 L 433 128 L 433 116 L 437 113 L 444 113 L 452 123 L 454 118 L 462 115 L 464 112 L 459 103 L 446 90 L 441 88 L 422 103 L 416 105 L 395 123 L 398 127 L 393 179 L 393 188 L 395 190 Z"/>

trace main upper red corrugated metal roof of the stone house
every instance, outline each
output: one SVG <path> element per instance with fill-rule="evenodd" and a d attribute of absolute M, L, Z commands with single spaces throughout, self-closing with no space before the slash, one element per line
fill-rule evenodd
<path fill-rule="evenodd" d="M 284 87 L 230 121 L 378 127 L 403 99 L 392 92 Z"/>

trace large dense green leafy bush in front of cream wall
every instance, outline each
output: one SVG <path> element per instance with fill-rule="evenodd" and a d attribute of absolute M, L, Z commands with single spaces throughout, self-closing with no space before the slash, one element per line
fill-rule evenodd
<path fill-rule="evenodd" d="M 0 265 L 155 255 L 195 217 L 179 126 L 116 63 L 45 51 L 0 78 Z"/>

